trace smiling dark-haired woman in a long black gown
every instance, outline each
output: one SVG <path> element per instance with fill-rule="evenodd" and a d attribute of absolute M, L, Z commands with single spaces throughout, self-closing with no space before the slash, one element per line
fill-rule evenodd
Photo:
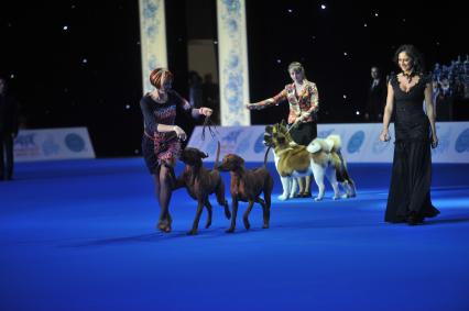
<path fill-rule="evenodd" d="M 390 78 L 380 135 L 383 142 L 391 140 L 388 126 L 394 110 L 394 159 L 384 220 L 414 225 L 439 213 L 432 204 L 429 193 L 430 146 L 435 148 L 438 145 L 432 80 L 424 76 L 423 59 L 414 46 L 399 47 L 394 62 L 401 73 Z M 426 114 L 423 110 L 424 100 Z"/>

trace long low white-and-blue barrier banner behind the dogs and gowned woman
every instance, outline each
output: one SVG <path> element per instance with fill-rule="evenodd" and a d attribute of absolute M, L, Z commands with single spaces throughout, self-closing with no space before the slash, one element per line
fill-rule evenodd
<path fill-rule="evenodd" d="M 342 155 L 349 163 L 391 163 L 394 152 L 394 126 L 390 125 L 391 142 L 379 140 L 381 124 L 319 124 L 318 137 L 338 134 L 342 141 Z M 217 136 L 209 133 L 201 140 L 201 127 L 194 130 L 188 146 L 199 148 L 215 160 L 217 141 L 221 155 L 234 153 L 247 162 L 263 162 L 266 147 L 263 145 L 264 125 L 217 127 Z M 208 131 L 207 131 L 208 132 Z M 469 163 L 469 122 L 438 122 L 439 145 L 432 151 L 434 163 Z M 273 160 L 270 155 L 269 160 Z"/>

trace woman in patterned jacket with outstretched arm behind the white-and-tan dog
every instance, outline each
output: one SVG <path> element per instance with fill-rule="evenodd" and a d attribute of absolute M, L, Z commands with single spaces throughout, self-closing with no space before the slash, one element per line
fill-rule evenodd
<path fill-rule="evenodd" d="M 287 100 L 290 104 L 288 124 L 291 127 L 293 126 L 290 134 L 295 143 L 306 146 L 317 137 L 319 96 L 316 85 L 306 79 L 305 69 L 302 64 L 297 62 L 290 64 L 288 74 L 293 84 L 286 85 L 285 88 L 273 98 L 249 103 L 246 107 L 249 110 L 260 110 L 277 105 L 282 101 Z M 299 192 L 297 197 L 312 197 L 310 180 L 310 176 L 298 178 Z"/>

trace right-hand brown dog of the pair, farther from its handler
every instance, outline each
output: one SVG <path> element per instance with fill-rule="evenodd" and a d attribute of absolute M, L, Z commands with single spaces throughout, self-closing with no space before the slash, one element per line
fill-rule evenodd
<path fill-rule="evenodd" d="M 273 178 L 265 167 L 269 155 L 269 148 L 264 156 L 264 166 L 255 169 L 247 169 L 242 157 L 228 154 L 223 157 L 221 165 L 218 167 L 221 171 L 229 171 L 231 175 L 230 192 L 231 192 L 231 226 L 227 232 L 234 232 L 236 218 L 238 213 L 238 201 L 249 202 L 248 209 L 243 214 L 244 227 L 250 229 L 249 214 L 251 213 L 254 202 L 262 206 L 264 224 L 262 227 L 269 227 L 271 211 L 271 195 L 273 189 Z M 259 196 L 264 193 L 264 200 Z"/>

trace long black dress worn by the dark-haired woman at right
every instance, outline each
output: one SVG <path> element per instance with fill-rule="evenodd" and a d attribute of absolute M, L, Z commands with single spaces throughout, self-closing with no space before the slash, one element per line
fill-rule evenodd
<path fill-rule="evenodd" d="M 408 92 L 401 89 L 397 77 L 391 78 L 394 90 L 395 146 L 391 187 L 384 220 L 405 222 L 410 215 L 432 218 L 439 214 L 430 200 L 432 153 L 430 125 L 423 111 L 426 77 Z"/>

